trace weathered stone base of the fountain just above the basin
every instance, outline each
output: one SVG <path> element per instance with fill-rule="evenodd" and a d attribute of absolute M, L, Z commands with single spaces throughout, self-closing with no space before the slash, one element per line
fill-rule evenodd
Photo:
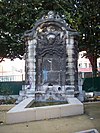
<path fill-rule="evenodd" d="M 48 85 L 38 86 L 36 91 L 29 89 L 28 85 L 22 86 L 22 91 L 19 93 L 17 103 L 21 102 L 25 98 L 32 97 L 36 101 L 66 101 L 67 98 L 74 98 L 75 87 L 72 85 L 59 86 Z"/>

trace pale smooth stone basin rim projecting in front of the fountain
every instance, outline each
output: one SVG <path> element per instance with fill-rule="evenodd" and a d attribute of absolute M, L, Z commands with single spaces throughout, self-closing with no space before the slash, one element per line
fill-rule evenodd
<path fill-rule="evenodd" d="M 27 98 L 9 110 L 6 123 L 20 123 L 83 114 L 83 104 L 77 98 L 67 98 L 68 104 L 29 108 L 33 98 Z"/>

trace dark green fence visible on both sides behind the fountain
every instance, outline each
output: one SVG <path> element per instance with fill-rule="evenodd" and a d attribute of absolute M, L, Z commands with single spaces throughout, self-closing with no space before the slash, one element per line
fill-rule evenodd
<path fill-rule="evenodd" d="M 24 81 L 0 82 L 0 95 L 4 95 L 8 90 L 11 95 L 19 95 L 19 91 L 22 90 L 23 84 L 25 84 Z M 83 82 L 83 90 L 86 92 L 100 92 L 100 77 L 85 78 Z"/>

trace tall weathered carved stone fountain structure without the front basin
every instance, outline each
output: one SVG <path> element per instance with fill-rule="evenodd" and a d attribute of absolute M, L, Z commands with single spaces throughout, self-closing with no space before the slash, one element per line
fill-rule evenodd
<path fill-rule="evenodd" d="M 78 33 L 58 13 L 48 12 L 25 32 L 26 97 L 66 101 L 78 91 Z"/>

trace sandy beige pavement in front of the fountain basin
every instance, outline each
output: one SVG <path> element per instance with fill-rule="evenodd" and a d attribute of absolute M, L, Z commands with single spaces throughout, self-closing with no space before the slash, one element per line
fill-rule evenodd
<path fill-rule="evenodd" d="M 21 124 L 0 125 L 0 133 L 74 133 L 97 129 L 100 132 L 100 102 L 84 104 L 85 114 Z M 1 113 L 5 116 L 5 113 Z M 0 121 L 4 120 L 1 117 Z"/>

